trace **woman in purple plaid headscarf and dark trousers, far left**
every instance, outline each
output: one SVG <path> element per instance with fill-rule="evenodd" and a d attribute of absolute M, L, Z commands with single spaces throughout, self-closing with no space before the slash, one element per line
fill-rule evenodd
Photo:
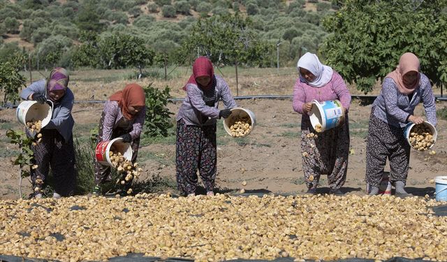
<path fill-rule="evenodd" d="M 31 168 L 33 191 L 31 198 L 41 198 L 45 177 L 51 167 L 54 177 L 54 198 L 69 196 L 75 189 L 75 152 L 73 147 L 73 125 L 71 109 L 75 96 L 68 88 L 68 72 L 65 68 L 54 68 L 48 79 L 38 80 L 22 90 L 24 100 L 53 104 L 50 122 L 41 129 L 40 143 L 31 146 L 34 162 Z M 48 102 L 49 103 L 49 102 Z M 27 135 L 31 133 L 27 131 Z"/>

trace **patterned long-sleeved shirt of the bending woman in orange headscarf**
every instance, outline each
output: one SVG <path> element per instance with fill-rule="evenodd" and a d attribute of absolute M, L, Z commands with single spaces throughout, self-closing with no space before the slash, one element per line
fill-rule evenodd
<path fill-rule="evenodd" d="M 121 108 L 119 108 L 118 101 L 105 101 L 103 112 L 105 114 L 103 120 L 103 141 L 108 141 L 112 138 L 113 129 L 122 127 L 122 124 L 127 121 L 123 116 Z M 138 112 L 136 117 L 129 120 L 129 128 L 131 127 L 129 134 L 132 140 L 141 136 L 142 126 L 145 124 L 145 117 L 146 107 Z"/>

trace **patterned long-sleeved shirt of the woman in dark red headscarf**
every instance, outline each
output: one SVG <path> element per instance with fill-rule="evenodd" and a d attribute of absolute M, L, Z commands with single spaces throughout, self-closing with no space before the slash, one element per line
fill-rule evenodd
<path fill-rule="evenodd" d="M 186 98 L 177 114 L 177 121 L 184 119 L 187 125 L 207 126 L 216 123 L 219 118 L 219 100 L 222 99 L 226 108 L 234 108 L 236 102 L 231 96 L 230 88 L 221 76 L 216 76 L 216 101 L 214 106 L 208 106 L 203 101 L 203 91 L 197 85 L 186 85 Z M 205 119 L 204 119 L 205 118 Z"/>

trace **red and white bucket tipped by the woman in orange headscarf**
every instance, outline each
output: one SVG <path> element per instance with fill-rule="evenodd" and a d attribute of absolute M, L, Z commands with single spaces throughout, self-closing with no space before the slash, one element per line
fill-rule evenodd
<path fill-rule="evenodd" d="M 124 158 L 131 160 L 133 154 L 131 143 L 124 143 L 122 140 L 122 138 L 115 138 L 98 143 L 95 149 L 96 160 L 103 166 L 113 166 L 110 161 L 110 151 L 119 152 Z"/>

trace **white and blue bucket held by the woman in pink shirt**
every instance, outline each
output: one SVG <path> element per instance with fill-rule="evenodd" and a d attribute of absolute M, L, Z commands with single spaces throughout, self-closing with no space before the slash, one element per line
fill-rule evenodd
<path fill-rule="evenodd" d="M 314 129 L 317 124 L 321 125 L 321 132 L 333 129 L 342 123 L 344 110 L 342 103 L 338 100 L 318 102 L 312 101 L 312 110 L 310 110 L 310 122 Z"/>

